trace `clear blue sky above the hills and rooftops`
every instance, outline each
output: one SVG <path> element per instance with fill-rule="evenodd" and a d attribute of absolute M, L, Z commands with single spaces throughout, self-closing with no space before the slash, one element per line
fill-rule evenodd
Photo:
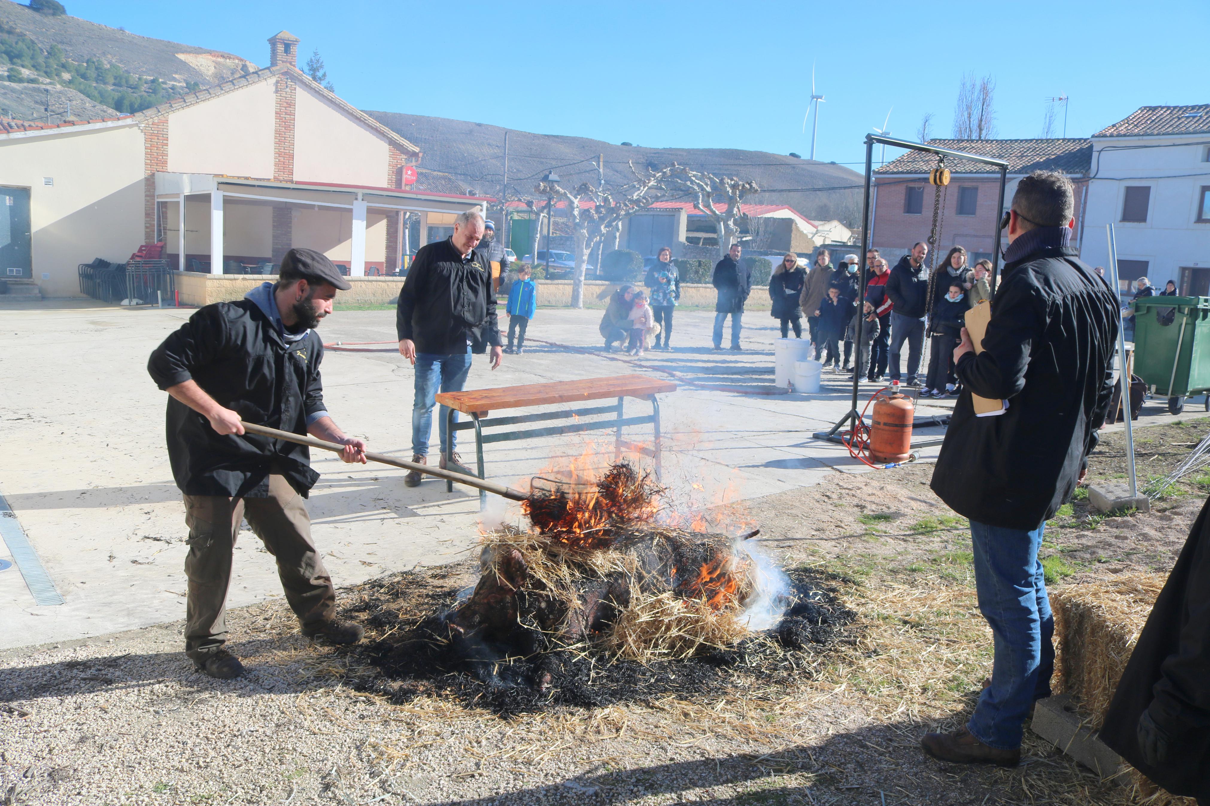
<path fill-rule="evenodd" d="M 284 28 L 302 40 L 300 62 L 318 48 L 336 92 L 362 109 L 645 146 L 807 156 L 812 62 L 824 161 L 863 160 L 892 106 L 894 135 L 914 139 L 930 111 L 934 137 L 949 137 L 967 71 L 995 79 L 1008 138 L 1037 137 L 1050 95 L 1071 98 L 1070 137 L 1143 105 L 1210 103 L 1206 0 L 63 1 L 76 17 L 259 65 Z M 480 73 L 491 88 L 477 88 Z"/>

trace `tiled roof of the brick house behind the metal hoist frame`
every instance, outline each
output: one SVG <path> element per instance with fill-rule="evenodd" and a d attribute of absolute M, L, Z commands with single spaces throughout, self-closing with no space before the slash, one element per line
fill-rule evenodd
<path fill-rule="evenodd" d="M 1003 160 L 1008 173 L 1061 170 L 1087 174 L 1093 162 L 1093 144 L 1087 138 L 1032 138 L 1028 140 L 929 140 L 929 145 L 966 151 L 980 157 Z M 877 174 L 923 174 L 937 167 L 937 156 L 927 151 L 909 151 L 877 168 Z M 956 174 L 998 173 L 993 166 L 969 160 L 946 160 L 945 167 Z"/>

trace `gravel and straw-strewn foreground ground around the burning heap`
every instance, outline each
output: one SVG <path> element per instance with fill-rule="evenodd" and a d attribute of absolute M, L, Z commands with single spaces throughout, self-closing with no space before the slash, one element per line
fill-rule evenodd
<path fill-rule="evenodd" d="M 1171 428 L 1142 429 L 1143 445 L 1179 443 L 1151 464 L 1205 430 Z M 1094 477 L 1118 472 L 1112 437 Z M 1129 802 L 1028 731 L 1015 770 L 922 756 L 921 733 L 966 720 L 991 643 L 969 538 L 930 472 L 837 474 L 751 501 L 766 547 L 839 572 L 859 614 L 857 639 L 801 685 L 512 719 L 454 698 L 393 706 L 345 685 L 335 650 L 278 598 L 230 613 L 248 667 L 235 682 L 192 671 L 180 624 L 0 653 L 0 804 Z M 1198 489 L 1133 517 L 1073 511 L 1048 550 L 1073 579 L 1166 570 Z M 1125 550 L 1099 562 L 1111 538 Z"/>

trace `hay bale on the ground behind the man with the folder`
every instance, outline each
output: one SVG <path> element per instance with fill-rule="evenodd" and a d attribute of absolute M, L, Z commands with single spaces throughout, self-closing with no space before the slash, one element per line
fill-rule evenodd
<path fill-rule="evenodd" d="M 1058 653 L 1055 690 L 1072 695 L 1094 730 L 1105 721 L 1165 579 L 1159 574 L 1122 574 L 1050 592 Z"/>

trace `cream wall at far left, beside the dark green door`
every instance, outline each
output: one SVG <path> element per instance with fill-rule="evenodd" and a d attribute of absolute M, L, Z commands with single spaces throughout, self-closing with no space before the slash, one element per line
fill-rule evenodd
<path fill-rule="evenodd" d="M 125 262 L 143 243 L 143 133 L 134 124 L 0 138 L 0 184 L 30 189 L 34 282 L 44 296 L 82 296 L 80 263 Z"/>

